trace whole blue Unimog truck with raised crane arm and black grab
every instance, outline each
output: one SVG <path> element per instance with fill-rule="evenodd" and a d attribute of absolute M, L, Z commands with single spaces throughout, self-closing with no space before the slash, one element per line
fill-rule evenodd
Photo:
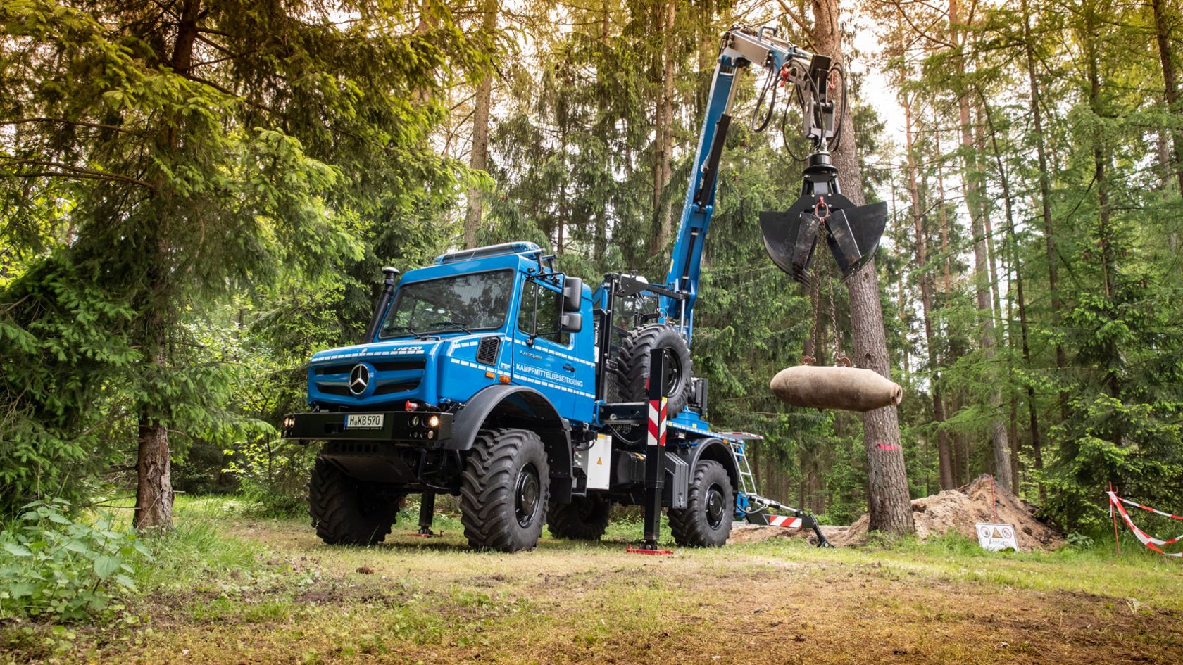
<path fill-rule="evenodd" d="M 680 545 L 722 545 L 735 518 L 764 523 L 763 510 L 783 508 L 755 495 L 743 456 L 755 435 L 713 431 L 706 381 L 691 372 L 728 111 L 750 63 L 769 69 L 774 98 L 781 82 L 804 90 L 814 140 L 801 199 L 762 219 L 769 254 L 804 278 L 820 221 L 843 271 L 870 259 L 886 213 L 838 192 L 834 67 L 767 28 L 729 31 L 665 283 L 618 273 L 593 291 L 530 243 L 448 252 L 401 279 L 386 269 L 362 343 L 312 356 L 311 411 L 287 415 L 283 435 L 323 443 L 309 483 L 321 538 L 383 540 L 408 493 L 422 493 L 421 534 L 435 495 L 459 495 L 468 543 L 502 551 L 534 548 L 544 523 L 556 537 L 599 538 L 614 503 L 647 505 L 653 534 L 667 508 Z M 791 519 L 816 527 L 801 511 Z"/>

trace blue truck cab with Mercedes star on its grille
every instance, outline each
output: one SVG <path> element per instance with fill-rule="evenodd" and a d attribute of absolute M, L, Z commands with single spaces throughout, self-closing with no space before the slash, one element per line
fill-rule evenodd
<path fill-rule="evenodd" d="M 492 386 L 528 386 L 568 421 L 590 422 L 590 292 L 542 259 L 537 245 L 511 243 L 441 254 L 407 272 L 361 344 L 312 356 L 309 405 L 447 412 Z"/>

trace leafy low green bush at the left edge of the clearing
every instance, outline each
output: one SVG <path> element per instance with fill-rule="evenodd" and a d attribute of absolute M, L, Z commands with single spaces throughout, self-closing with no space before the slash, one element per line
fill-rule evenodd
<path fill-rule="evenodd" d="M 66 517 L 62 498 L 26 504 L 0 531 L 0 615 L 77 621 L 101 615 L 134 592 L 129 560 L 150 559 L 134 530 L 106 515 L 93 523 Z"/>

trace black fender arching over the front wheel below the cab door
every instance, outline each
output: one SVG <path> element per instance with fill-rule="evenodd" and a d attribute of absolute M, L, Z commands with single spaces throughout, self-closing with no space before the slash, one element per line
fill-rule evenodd
<path fill-rule="evenodd" d="M 466 451 L 477 433 L 492 427 L 519 427 L 542 439 L 550 465 L 552 501 L 571 501 L 571 426 L 545 395 L 525 386 L 498 385 L 472 396 L 452 421 L 452 437 L 441 441 L 445 450 Z"/>

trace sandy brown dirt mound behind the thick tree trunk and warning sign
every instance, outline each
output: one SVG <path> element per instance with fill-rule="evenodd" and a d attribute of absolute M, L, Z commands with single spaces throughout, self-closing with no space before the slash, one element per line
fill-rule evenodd
<path fill-rule="evenodd" d="M 997 519 L 995 519 L 995 511 L 990 506 L 991 484 L 994 485 Z M 967 538 L 976 541 L 975 523 L 997 522 L 1015 525 L 1019 549 L 1022 551 L 1062 547 L 1064 534 L 1036 519 L 1034 514 L 1035 506 L 1010 493 L 1009 489 L 994 483 L 990 476 L 984 474 L 978 476 L 964 488 L 945 490 L 939 495 L 912 502 L 916 535 L 920 538 L 957 531 Z M 864 515 L 849 527 L 822 527 L 822 534 L 826 535 L 826 540 L 838 547 L 862 544 L 867 541 L 868 524 L 870 517 Z M 731 529 L 731 538 L 728 542 L 746 543 L 784 537 L 804 537 L 810 542 L 816 541 L 812 530 L 736 525 Z"/>

